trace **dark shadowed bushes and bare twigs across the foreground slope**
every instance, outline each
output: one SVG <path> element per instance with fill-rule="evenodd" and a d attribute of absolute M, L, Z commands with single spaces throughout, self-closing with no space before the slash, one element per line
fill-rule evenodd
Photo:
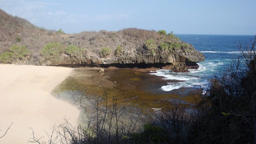
<path fill-rule="evenodd" d="M 240 45 L 241 55 L 195 98 L 195 109 L 190 113 L 174 102 L 144 120 L 140 128 L 139 116 L 131 117 L 128 123 L 120 121 L 124 108 L 118 109 L 113 101 L 97 108 L 103 115 L 97 112 L 95 121 L 85 127 L 73 127 L 68 122 L 53 127 L 57 136 L 48 135 L 51 139 L 47 143 L 256 143 L 255 42 L 256 37 L 250 47 Z M 35 137 L 30 142 L 40 143 Z"/>

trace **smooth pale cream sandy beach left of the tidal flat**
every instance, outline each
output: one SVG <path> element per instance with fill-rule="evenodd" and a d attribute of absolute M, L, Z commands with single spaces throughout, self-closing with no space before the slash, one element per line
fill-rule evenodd
<path fill-rule="evenodd" d="M 79 110 L 58 100 L 51 91 L 71 72 L 71 68 L 0 64 L 0 137 L 13 122 L 0 144 L 25 144 L 32 136 L 45 136 L 44 130 L 63 122 L 77 125 Z"/>

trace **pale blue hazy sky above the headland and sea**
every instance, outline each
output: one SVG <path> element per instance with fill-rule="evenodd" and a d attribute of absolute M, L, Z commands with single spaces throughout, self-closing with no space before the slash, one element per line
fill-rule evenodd
<path fill-rule="evenodd" d="M 0 0 L 0 9 L 66 33 L 136 27 L 174 34 L 256 34 L 256 0 Z"/>

